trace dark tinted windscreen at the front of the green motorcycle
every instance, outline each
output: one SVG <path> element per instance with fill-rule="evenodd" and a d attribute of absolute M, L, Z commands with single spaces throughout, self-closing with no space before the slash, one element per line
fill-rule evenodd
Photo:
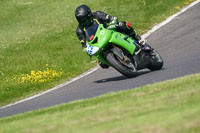
<path fill-rule="evenodd" d="M 94 38 L 96 32 L 97 32 L 97 29 L 98 29 L 99 25 L 93 25 L 93 26 L 90 26 L 86 29 L 86 36 L 87 36 L 87 39 L 89 41 L 92 41 L 92 39 Z"/>

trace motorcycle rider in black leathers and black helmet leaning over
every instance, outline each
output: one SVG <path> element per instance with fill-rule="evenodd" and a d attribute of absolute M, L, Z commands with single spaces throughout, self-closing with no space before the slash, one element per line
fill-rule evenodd
<path fill-rule="evenodd" d="M 110 16 L 102 11 L 92 12 L 87 5 L 80 5 L 75 10 L 75 17 L 79 23 L 76 34 L 82 44 L 82 48 L 86 50 L 86 29 L 91 25 L 103 24 L 109 30 L 116 29 L 116 31 L 124 33 L 140 44 L 141 47 L 145 46 L 145 39 L 141 38 L 133 29 L 132 25 L 128 21 L 118 22 L 117 17 Z M 108 66 L 102 62 L 99 63 L 102 68 L 108 68 Z"/>

